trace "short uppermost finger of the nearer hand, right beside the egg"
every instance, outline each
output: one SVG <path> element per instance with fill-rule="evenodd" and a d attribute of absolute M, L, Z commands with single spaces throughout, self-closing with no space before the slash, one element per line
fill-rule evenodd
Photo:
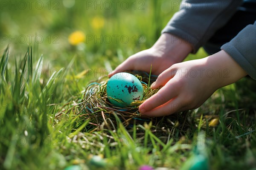
<path fill-rule="evenodd" d="M 154 83 L 152 83 L 150 88 L 156 89 L 156 88 L 159 88 L 160 86 L 166 85 L 166 83 L 170 79 L 172 79 L 172 77 L 174 77 L 176 73 L 177 73 L 177 69 L 168 68 L 157 77 L 157 80 Z"/>

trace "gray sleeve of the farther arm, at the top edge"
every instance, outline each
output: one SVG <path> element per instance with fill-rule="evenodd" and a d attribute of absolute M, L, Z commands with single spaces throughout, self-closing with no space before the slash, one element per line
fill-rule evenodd
<path fill-rule="evenodd" d="M 242 0 L 183 0 L 161 32 L 192 44 L 193 51 L 204 45 L 233 16 Z"/>

